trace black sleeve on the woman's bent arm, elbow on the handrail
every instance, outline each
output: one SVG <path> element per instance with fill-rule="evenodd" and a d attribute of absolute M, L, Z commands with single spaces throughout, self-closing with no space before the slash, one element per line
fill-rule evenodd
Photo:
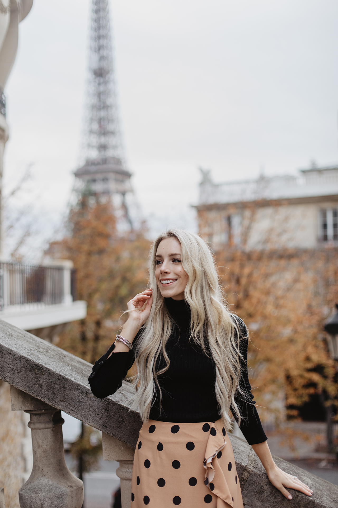
<path fill-rule="evenodd" d="M 133 345 L 136 344 L 136 340 L 137 336 Z M 95 362 L 88 378 L 91 391 L 99 399 L 108 397 L 121 388 L 123 379 L 135 361 L 134 347 L 128 353 L 115 353 L 108 358 L 114 349 L 115 344 L 112 344 L 108 351 Z"/>

